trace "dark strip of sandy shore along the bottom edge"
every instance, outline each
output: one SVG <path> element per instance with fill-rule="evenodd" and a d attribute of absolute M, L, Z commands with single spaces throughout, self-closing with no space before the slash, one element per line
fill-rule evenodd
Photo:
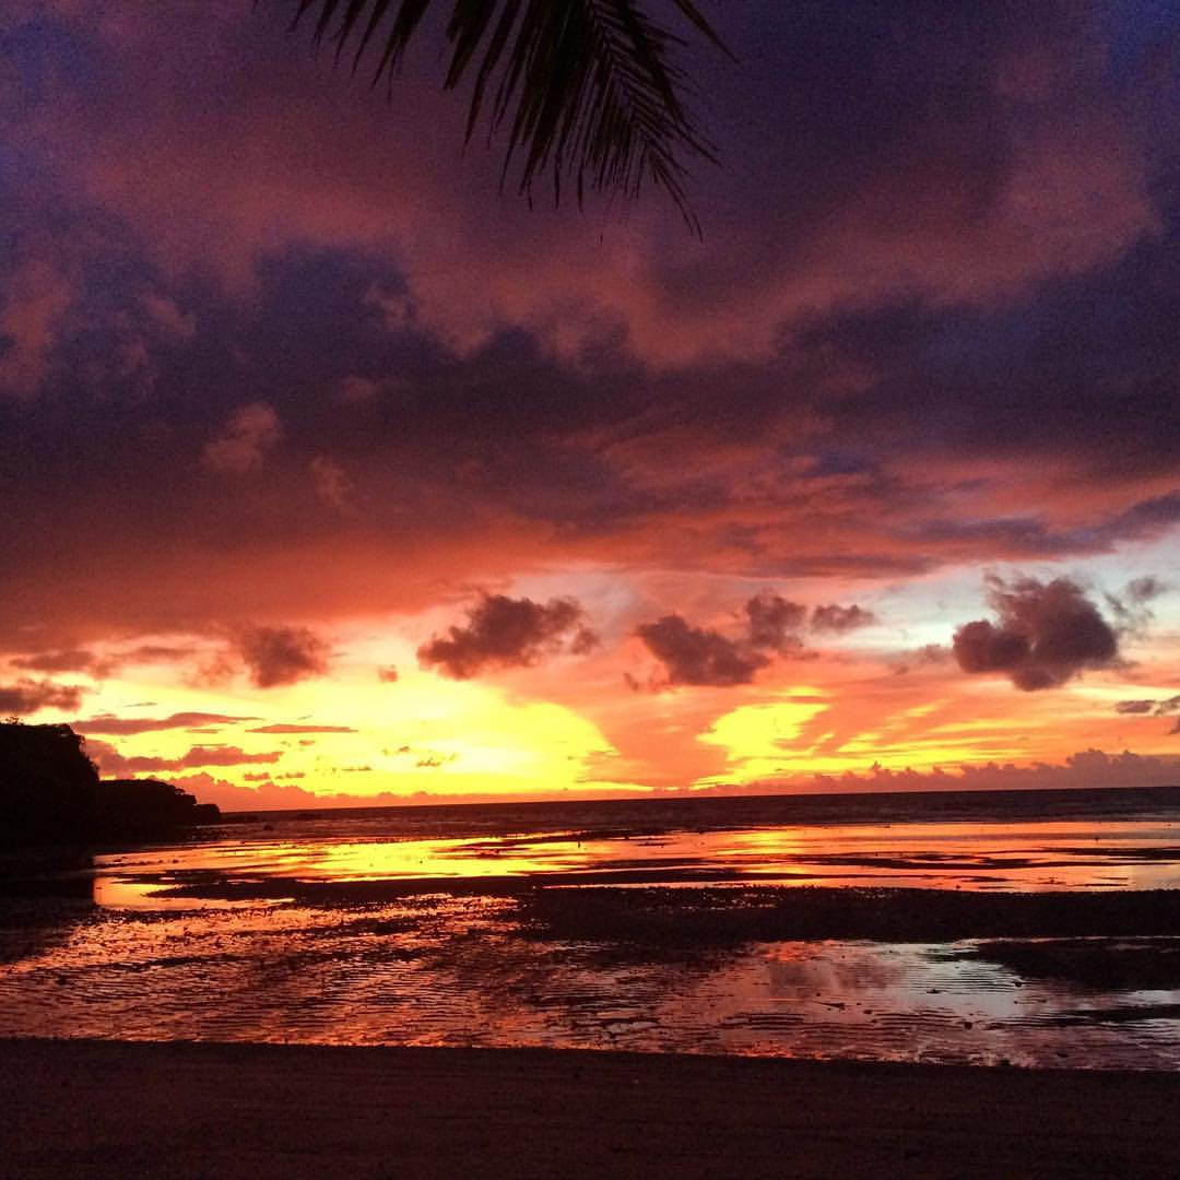
<path fill-rule="evenodd" d="M 0 1042 L 0 1174 L 1174 1176 L 1180 1075 Z"/>

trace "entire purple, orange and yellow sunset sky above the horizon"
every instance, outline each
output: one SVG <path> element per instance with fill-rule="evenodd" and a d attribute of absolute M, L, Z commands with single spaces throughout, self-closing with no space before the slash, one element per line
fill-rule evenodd
<path fill-rule="evenodd" d="M 4 5 L 0 716 L 234 809 L 1180 781 L 1174 5 L 703 0 L 700 238 L 291 11 Z"/>

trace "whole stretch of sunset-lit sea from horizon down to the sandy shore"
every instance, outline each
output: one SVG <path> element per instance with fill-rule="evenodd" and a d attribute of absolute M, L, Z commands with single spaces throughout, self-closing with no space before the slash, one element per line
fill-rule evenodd
<path fill-rule="evenodd" d="M 229 819 L 9 864 L 0 1035 L 1180 1068 L 1180 788 Z"/>

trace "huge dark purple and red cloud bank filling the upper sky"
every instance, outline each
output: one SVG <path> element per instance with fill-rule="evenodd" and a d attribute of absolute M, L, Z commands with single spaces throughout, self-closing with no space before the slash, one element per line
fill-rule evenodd
<path fill-rule="evenodd" d="M 417 611 L 537 535 L 553 562 L 642 532 L 657 568 L 872 576 L 1180 519 L 1178 104 L 1146 66 L 1174 31 L 1117 55 L 1136 6 L 717 6 L 742 65 L 704 66 L 701 245 L 658 203 L 605 245 L 490 205 L 447 96 L 402 79 L 389 119 L 278 6 L 17 7 L 14 650 L 58 620 Z"/>

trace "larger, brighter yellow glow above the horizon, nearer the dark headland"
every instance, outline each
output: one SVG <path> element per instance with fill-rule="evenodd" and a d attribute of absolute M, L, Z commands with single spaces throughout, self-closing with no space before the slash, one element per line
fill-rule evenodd
<path fill-rule="evenodd" d="M 91 715 L 135 716 L 138 710 L 126 702 L 144 687 L 107 684 Z M 380 683 L 367 669 L 363 676 L 341 676 L 330 693 L 306 681 L 266 694 L 177 687 L 151 695 L 143 713 L 152 716 L 201 712 L 240 719 L 94 734 L 125 759 L 188 760 L 183 767 L 160 765 L 158 774 L 166 779 L 205 773 L 238 787 L 270 780 L 312 794 L 343 792 L 361 799 L 382 792 L 558 793 L 589 786 L 592 765 L 617 753 L 594 722 L 565 706 L 520 701 L 496 684 L 418 671 Z M 275 726 L 302 726 L 307 732 L 258 732 Z M 333 727 L 341 732 L 330 732 Z M 231 748 L 241 750 L 243 760 L 192 761 L 196 748 L 212 750 L 214 759 L 217 750 Z M 263 758 L 268 760 L 250 761 Z M 145 766 L 139 773 L 157 772 Z"/>

